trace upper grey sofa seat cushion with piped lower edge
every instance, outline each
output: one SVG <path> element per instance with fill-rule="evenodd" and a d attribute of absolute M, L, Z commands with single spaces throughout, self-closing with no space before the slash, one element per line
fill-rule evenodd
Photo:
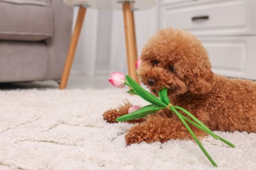
<path fill-rule="evenodd" d="M 53 36 L 51 0 L 0 0 L 0 40 L 43 41 Z"/>

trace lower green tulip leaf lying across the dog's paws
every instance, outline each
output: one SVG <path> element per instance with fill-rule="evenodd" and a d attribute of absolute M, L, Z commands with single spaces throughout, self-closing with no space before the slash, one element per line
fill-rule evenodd
<path fill-rule="evenodd" d="M 143 118 L 144 116 L 148 114 L 153 114 L 157 112 L 158 110 L 163 109 L 160 106 L 157 105 L 147 105 L 145 107 L 140 108 L 139 110 L 136 110 L 135 112 L 131 112 L 129 114 L 125 114 L 123 116 L 120 116 L 116 119 L 117 122 L 123 122 L 127 120 L 134 120 L 137 118 Z"/>

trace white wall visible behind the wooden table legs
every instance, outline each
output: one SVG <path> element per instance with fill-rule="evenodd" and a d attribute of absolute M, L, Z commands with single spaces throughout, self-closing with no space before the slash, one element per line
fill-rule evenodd
<path fill-rule="evenodd" d="M 74 20 L 77 9 L 74 12 Z M 158 29 L 158 6 L 135 11 L 138 56 Z M 123 12 L 87 9 L 72 72 L 86 75 L 127 73 Z"/>

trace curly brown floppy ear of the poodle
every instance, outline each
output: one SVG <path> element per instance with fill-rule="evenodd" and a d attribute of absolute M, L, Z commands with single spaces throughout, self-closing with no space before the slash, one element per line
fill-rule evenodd
<path fill-rule="evenodd" d="M 208 59 L 186 59 L 177 63 L 177 74 L 186 82 L 188 91 L 191 93 L 207 93 L 215 83 L 214 73 L 211 71 L 211 63 Z"/>

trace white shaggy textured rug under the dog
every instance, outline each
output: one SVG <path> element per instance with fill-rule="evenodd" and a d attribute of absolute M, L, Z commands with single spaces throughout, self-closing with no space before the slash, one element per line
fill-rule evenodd
<path fill-rule="evenodd" d="M 216 169 L 194 141 L 125 146 L 131 124 L 108 124 L 104 110 L 123 99 L 145 105 L 126 90 L 0 91 L 0 169 Z M 203 146 L 218 169 L 256 169 L 256 134 L 221 133 Z"/>

